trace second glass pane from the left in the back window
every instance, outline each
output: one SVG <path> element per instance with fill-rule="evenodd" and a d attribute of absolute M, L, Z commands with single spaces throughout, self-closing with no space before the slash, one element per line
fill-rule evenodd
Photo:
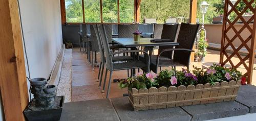
<path fill-rule="evenodd" d="M 84 0 L 86 22 L 100 22 L 100 0 Z"/>

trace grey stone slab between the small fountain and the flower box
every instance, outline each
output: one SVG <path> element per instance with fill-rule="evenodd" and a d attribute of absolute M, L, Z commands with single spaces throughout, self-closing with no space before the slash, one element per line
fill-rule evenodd
<path fill-rule="evenodd" d="M 60 121 L 66 120 L 118 120 L 108 99 L 65 103 Z"/>

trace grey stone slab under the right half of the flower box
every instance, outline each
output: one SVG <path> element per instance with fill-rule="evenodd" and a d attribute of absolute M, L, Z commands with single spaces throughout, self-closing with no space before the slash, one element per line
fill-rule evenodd
<path fill-rule="evenodd" d="M 246 106 L 235 101 L 183 106 L 182 108 L 192 115 L 194 121 L 245 115 L 249 112 Z"/>

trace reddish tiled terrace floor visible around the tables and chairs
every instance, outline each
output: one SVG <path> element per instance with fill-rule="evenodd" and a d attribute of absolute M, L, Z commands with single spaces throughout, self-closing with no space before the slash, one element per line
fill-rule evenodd
<path fill-rule="evenodd" d="M 155 51 L 157 54 L 157 51 Z M 97 61 L 100 60 L 99 54 L 97 55 Z M 208 50 L 208 54 L 205 57 L 204 63 L 193 62 L 190 64 L 190 69 L 193 69 L 193 65 L 201 67 L 201 65 L 209 66 L 212 63 L 218 63 L 220 59 L 219 51 Z M 234 62 L 240 62 L 238 58 L 234 58 Z M 99 63 L 99 62 L 98 62 Z M 254 67 L 256 66 L 256 60 L 254 61 Z M 165 67 L 162 69 L 168 69 Z M 181 69 L 181 67 L 177 67 Z M 238 68 L 245 73 L 243 67 Z M 104 70 L 105 71 L 105 70 Z M 94 99 L 105 98 L 106 93 L 101 93 L 98 89 L 99 82 L 98 78 L 99 67 L 95 67 L 95 70 L 92 70 L 92 66 L 87 61 L 87 55 L 83 55 L 78 48 L 73 49 L 72 54 L 72 102 L 76 101 L 86 101 Z M 108 72 L 109 74 L 109 72 Z M 253 70 L 253 79 L 256 79 L 256 70 Z M 103 75 L 104 77 L 104 75 Z M 109 75 L 107 75 L 107 79 Z M 114 71 L 112 79 L 123 79 L 127 78 L 127 70 Z M 252 84 L 256 84 L 254 81 Z M 108 81 L 106 82 L 106 87 L 108 86 Z M 105 90 L 106 91 L 106 90 Z M 122 96 L 123 93 L 127 93 L 127 89 L 119 89 L 117 83 L 111 82 L 110 98 L 116 98 Z"/>

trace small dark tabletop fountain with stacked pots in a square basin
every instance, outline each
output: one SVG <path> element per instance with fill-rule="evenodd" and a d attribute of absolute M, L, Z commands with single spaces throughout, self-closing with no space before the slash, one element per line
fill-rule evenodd
<path fill-rule="evenodd" d="M 59 120 L 64 96 L 56 96 L 56 86 L 48 85 L 45 78 L 30 80 L 34 99 L 24 110 L 28 120 Z"/>

